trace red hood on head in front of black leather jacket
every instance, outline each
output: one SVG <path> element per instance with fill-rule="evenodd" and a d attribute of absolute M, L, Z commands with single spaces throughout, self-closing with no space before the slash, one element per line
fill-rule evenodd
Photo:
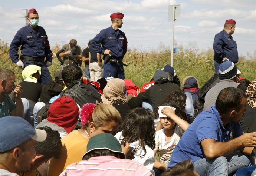
<path fill-rule="evenodd" d="M 76 102 L 68 96 L 59 97 L 50 105 L 46 120 L 57 124 L 70 133 L 79 118 L 79 109 Z"/>

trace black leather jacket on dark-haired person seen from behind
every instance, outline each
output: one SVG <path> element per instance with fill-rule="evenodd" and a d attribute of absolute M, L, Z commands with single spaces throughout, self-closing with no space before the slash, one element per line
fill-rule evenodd
<path fill-rule="evenodd" d="M 102 102 L 99 92 L 92 86 L 88 86 L 81 80 L 77 80 L 70 84 L 66 90 L 60 93 L 60 96 L 69 96 L 75 100 L 75 102 L 82 107 L 86 103 Z"/>

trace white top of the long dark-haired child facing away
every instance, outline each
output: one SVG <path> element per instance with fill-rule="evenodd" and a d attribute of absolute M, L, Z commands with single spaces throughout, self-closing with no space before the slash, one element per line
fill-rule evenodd
<path fill-rule="evenodd" d="M 122 136 L 122 132 L 116 133 L 115 138 L 121 143 L 122 139 L 124 138 Z M 135 146 L 137 149 L 137 151 L 134 154 L 135 158 L 133 160 L 143 164 L 145 167 L 147 167 L 148 170 L 150 170 L 150 172 L 153 173 L 153 175 L 155 175 L 155 172 L 153 170 L 153 166 L 155 163 L 154 151 L 145 144 L 146 155 L 144 155 L 145 152 L 143 148 L 139 147 L 139 141 L 132 142 L 131 145 Z"/>

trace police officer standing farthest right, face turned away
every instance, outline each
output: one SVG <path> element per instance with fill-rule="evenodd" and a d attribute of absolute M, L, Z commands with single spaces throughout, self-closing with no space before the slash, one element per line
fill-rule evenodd
<path fill-rule="evenodd" d="M 234 33 L 235 27 L 235 20 L 226 20 L 223 31 L 216 34 L 214 38 L 213 49 L 215 73 L 218 72 L 220 64 L 227 60 L 230 60 L 235 64 L 238 62 L 237 45 L 231 36 Z"/>

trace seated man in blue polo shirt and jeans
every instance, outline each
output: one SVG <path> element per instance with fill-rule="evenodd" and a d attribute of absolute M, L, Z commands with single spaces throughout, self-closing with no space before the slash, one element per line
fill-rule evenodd
<path fill-rule="evenodd" d="M 210 111 L 201 112 L 181 137 L 167 168 L 191 159 L 201 176 L 233 175 L 250 165 L 256 133 L 242 133 L 239 120 L 246 112 L 246 94 L 234 87 L 219 93 Z M 234 152 L 239 150 L 240 152 Z"/>

